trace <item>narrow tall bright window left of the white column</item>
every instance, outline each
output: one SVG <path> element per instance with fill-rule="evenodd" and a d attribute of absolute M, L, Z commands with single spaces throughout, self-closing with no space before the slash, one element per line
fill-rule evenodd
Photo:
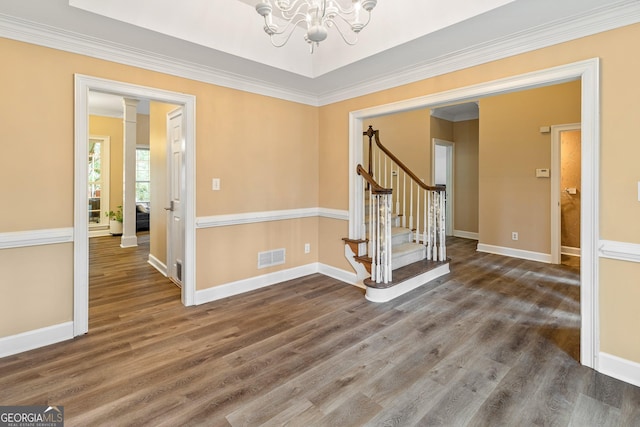
<path fill-rule="evenodd" d="M 89 226 L 108 224 L 109 211 L 109 137 L 89 138 L 88 159 Z"/>

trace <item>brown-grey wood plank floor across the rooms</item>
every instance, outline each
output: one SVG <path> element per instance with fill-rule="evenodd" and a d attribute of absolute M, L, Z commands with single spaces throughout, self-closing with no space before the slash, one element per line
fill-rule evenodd
<path fill-rule="evenodd" d="M 375 304 L 314 274 L 183 307 L 148 239 L 91 240 L 90 332 L 0 359 L 0 405 L 67 426 L 640 426 L 640 388 L 582 367 L 578 270 L 475 252 Z"/>

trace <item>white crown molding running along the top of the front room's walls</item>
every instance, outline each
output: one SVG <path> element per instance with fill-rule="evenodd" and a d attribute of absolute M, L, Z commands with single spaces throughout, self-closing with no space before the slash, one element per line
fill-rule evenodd
<path fill-rule="evenodd" d="M 554 44 L 590 36 L 640 22 L 640 2 L 625 0 L 571 19 L 552 21 L 532 30 L 480 43 L 425 60 L 415 66 L 324 93 L 304 92 L 262 80 L 151 53 L 32 21 L 0 14 L 0 37 L 86 55 L 151 71 L 298 102 L 312 106 L 413 83 Z"/>

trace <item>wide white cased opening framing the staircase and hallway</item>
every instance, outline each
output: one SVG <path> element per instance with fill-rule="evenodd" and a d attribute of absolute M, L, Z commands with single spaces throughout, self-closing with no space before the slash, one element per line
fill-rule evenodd
<path fill-rule="evenodd" d="M 362 163 L 363 122 L 369 118 L 581 80 L 582 204 L 580 263 L 580 362 L 598 369 L 600 351 L 598 243 L 600 239 L 600 60 L 587 59 L 473 86 L 412 98 L 349 113 L 349 237 L 361 236 L 363 185 L 356 173 Z"/>

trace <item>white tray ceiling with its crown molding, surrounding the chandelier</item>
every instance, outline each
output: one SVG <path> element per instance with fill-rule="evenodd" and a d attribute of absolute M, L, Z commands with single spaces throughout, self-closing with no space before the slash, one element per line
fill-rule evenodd
<path fill-rule="evenodd" d="M 640 0 L 379 0 L 356 46 L 311 55 L 271 46 L 256 2 L 2 0 L 0 37 L 324 105 L 640 22 Z"/>

